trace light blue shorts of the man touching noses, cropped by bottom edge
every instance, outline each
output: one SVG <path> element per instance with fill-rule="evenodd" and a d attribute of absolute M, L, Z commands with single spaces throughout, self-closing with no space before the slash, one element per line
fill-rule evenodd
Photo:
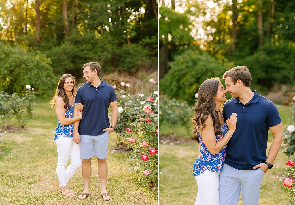
<path fill-rule="evenodd" d="M 219 205 L 237 205 L 242 189 L 244 205 L 257 205 L 264 172 L 257 170 L 237 170 L 223 164 L 219 175 Z"/>

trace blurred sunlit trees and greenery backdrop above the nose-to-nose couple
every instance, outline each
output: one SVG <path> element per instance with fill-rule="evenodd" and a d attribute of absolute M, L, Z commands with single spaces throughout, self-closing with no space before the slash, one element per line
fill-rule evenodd
<path fill-rule="evenodd" d="M 160 91 L 193 104 L 203 80 L 245 65 L 251 88 L 288 104 L 295 92 L 294 9 L 292 0 L 160 0 Z"/>

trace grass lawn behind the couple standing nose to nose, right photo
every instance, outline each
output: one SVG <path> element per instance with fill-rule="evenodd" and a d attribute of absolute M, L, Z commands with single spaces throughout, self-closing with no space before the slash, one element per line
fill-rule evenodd
<path fill-rule="evenodd" d="M 283 129 L 291 117 L 289 106 L 278 105 L 283 122 Z M 160 125 L 160 134 L 172 133 L 171 126 Z M 177 127 L 176 135 L 190 137 L 183 127 Z M 161 138 L 161 136 L 160 136 Z M 272 135 L 268 138 L 268 149 Z M 194 162 L 198 156 L 198 143 L 182 145 L 159 145 L 159 204 L 194 204 L 197 195 L 197 183 L 192 175 Z M 283 179 L 285 162 L 288 157 L 282 151 L 278 153 L 273 168 L 264 175 L 260 200 L 261 205 L 287 204 L 287 193 L 280 187 Z M 242 204 L 241 196 L 239 204 Z"/>

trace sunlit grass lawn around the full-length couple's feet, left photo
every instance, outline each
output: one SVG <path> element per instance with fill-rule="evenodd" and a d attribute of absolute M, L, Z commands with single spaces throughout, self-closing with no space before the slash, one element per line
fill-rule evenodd
<path fill-rule="evenodd" d="M 53 141 L 57 117 L 50 104 L 37 103 L 27 130 L 1 133 L 0 204 L 158 204 L 158 190 L 147 191 L 137 186 L 128 163 L 128 154 L 108 152 L 107 191 L 112 200 L 105 202 L 100 193 L 97 160 L 92 159 L 91 195 L 86 200 L 66 198 L 58 192 L 56 175 L 57 148 Z M 11 122 L 14 124 L 13 120 Z M 116 146 L 116 135 L 109 138 L 109 148 Z M 69 164 L 69 163 L 68 163 Z M 81 169 L 71 178 L 68 187 L 83 191 Z"/>

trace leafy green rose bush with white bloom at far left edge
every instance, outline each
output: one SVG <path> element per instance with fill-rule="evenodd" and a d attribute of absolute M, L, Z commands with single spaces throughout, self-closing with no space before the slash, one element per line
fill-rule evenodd
<path fill-rule="evenodd" d="M 32 118 L 32 106 L 35 103 L 34 92 L 27 89 L 23 95 L 19 96 L 17 93 L 0 93 L 0 115 L 1 118 L 6 119 L 7 127 L 9 127 L 8 119 L 15 117 L 19 125 L 24 128 L 30 118 Z M 26 112 L 24 112 L 24 110 Z M 0 118 L 0 119 L 1 119 Z"/>

